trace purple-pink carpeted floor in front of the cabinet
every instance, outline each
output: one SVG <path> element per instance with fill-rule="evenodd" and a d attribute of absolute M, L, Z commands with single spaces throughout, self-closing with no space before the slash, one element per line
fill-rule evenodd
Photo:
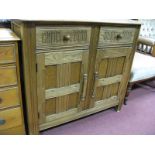
<path fill-rule="evenodd" d="M 153 82 L 155 85 L 155 81 Z M 151 84 L 152 85 L 152 84 Z M 132 90 L 120 112 L 113 108 L 42 132 L 42 135 L 154 135 L 155 89 Z"/>

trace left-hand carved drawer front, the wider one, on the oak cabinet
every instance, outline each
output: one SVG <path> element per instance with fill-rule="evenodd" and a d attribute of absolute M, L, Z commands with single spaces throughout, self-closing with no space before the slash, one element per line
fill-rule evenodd
<path fill-rule="evenodd" d="M 89 27 L 37 27 L 37 49 L 89 46 L 90 33 Z"/>

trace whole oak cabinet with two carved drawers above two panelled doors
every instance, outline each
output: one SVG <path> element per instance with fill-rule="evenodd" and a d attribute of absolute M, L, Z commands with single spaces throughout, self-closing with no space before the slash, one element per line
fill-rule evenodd
<path fill-rule="evenodd" d="M 12 21 L 22 40 L 29 134 L 121 109 L 140 23 Z"/>

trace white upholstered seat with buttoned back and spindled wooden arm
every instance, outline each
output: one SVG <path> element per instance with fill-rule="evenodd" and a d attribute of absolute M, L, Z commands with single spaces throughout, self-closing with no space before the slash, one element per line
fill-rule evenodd
<path fill-rule="evenodd" d="M 127 100 L 134 85 L 155 79 L 155 19 L 141 19 L 139 21 L 142 26 L 125 100 Z"/>

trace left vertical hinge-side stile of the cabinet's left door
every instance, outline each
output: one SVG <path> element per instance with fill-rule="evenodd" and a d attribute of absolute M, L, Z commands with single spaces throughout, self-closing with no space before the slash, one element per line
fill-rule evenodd
<path fill-rule="evenodd" d="M 39 123 L 45 122 L 45 56 L 44 54 L 37 55 L 37 95 L 38 95 L 38 111 Z"/>

